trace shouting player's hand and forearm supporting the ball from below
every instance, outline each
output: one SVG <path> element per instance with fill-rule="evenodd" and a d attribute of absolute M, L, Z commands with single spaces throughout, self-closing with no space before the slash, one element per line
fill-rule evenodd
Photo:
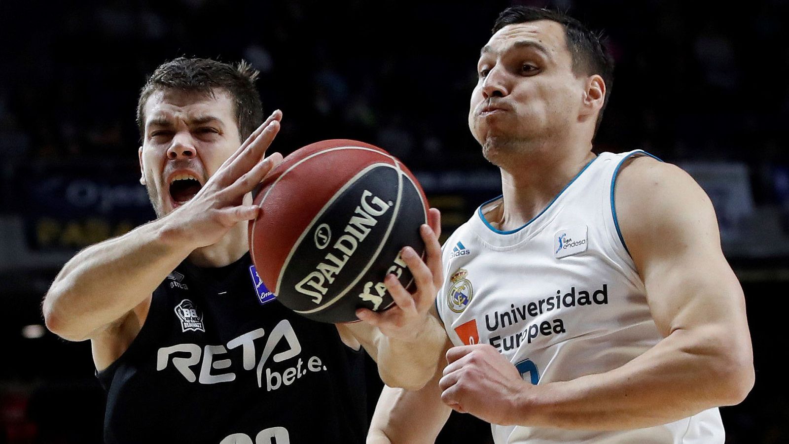
<path fill-rule="evenodd" d="M 435 307 L 436 292 L 441 286 L 441 214 L 435 208 L 428 211 L 428 224 L 421 226 L 426 259 L 406 247 L 402 259 L 406 262 L 417 284 L 417 291 L 409 293 L 394 275 L 384 280 L 395 306 L 385 312 L 365 308 L 357 311 L 364 322 L 338 324 L 347 330 L 378 364 L 381 379 L 388 386 L 418 390 L 436 371 L 447 334 L 430 313 Z"/>

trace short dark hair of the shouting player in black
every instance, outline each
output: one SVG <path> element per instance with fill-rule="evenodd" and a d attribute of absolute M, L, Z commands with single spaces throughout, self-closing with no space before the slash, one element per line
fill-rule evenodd
<path fill-rule="evenodd" d="M 243 60 L 229 65 L 210 58 L 179 57 L 159 65 L 140 90 L 137 101 L 140 137 L 145 139 L 145 103 L 155 91 L 178 89 L 212 95 L 215 90 L 222 90 L 233 100 L 238 134 L 246 140 L 263 122 L 263 105 L 255 88 L 258 75 L 260 72 Z"/>

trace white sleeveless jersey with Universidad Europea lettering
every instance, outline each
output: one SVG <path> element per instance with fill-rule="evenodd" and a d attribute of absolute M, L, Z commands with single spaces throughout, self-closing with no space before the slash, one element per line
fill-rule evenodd
<path fill-rule="evenodd" d="M 656 345 L 645 287 L 614 210 L 616 173 L 631 155 L 603 153 L 525 226 L 493 228 L 484 203 L 443 247 L 436 300 L 454 345 L 493 345 L 526 381 L 568 381 L 619 368 Z M 631 431 L 492 425 L 498 444 L 724 442 L 718 409 Z"/>

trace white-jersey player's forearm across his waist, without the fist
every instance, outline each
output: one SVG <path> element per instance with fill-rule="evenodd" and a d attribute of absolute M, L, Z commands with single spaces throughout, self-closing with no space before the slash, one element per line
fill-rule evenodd
<path fill-rule="evenodd" d="M 726 337 L 724 326 L 676 330 L 621 368 L 523 390 L 513 423 L 623 430 L 739 403 L 753 386 L 753 365 L 746 341 Z"/>

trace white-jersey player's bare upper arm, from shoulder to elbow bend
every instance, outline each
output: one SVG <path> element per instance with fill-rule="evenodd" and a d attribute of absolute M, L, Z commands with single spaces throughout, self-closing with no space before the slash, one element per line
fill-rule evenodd
<path fill-rule="evenodd" d="M 664 336 L 702 325 L 744 323 L 742 289 L 720 248 L 715 211 L 678 167 L 635 159 L 617 181 L 623 239 Z"/>

